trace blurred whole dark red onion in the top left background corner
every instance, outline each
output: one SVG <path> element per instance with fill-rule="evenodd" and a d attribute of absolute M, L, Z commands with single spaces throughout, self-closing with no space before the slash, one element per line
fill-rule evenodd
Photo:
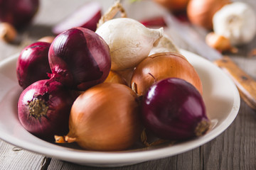
<path fill-rule="evenodd" d="M 23 28 L 31 23 L 39 6 L 39 0 L 0 0 L 0 21 Z"/>

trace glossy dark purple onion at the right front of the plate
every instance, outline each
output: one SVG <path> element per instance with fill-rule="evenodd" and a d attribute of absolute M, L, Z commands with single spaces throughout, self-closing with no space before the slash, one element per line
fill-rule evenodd
<path fill-rule="evenodd" d="M 201 94 L 178 78 L 151 86 L 142 101 L 142 120 L 164 140 L 188 140 L 205 134 L 210 125 Z"/>

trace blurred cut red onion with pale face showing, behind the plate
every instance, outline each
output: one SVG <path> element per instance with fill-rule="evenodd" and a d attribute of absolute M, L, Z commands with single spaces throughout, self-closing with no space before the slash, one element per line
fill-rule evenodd
<path fill-rule="evenodd" d="M 73 27 L 83 27 L 95 31 L 101 17 L 101 5 L 97 1 L 87 2 L 72 15 L 53 27 L 56 35 Z"/>

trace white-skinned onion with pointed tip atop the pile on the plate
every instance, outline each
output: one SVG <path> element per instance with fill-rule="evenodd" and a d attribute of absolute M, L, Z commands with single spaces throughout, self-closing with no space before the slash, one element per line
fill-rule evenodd
<path fill-rule="evenodd" d="M 150 29 L 132 18 L 114 18 L 97 28 L 100 35 L 110 47 L 111 69 L 120 71 L 135 67 L 145 57 L 159 38 L 163 28 Z"/>

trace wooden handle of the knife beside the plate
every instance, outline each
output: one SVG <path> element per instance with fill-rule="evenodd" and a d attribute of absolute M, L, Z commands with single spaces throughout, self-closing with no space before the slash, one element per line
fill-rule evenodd
<path fill-rule="evenodd" d="M 256 81 L 242 71 L 228 56 L 215 60 L 214 63 L 233 79 L 241 98 L 250 108 L 256 110 Z"/>

